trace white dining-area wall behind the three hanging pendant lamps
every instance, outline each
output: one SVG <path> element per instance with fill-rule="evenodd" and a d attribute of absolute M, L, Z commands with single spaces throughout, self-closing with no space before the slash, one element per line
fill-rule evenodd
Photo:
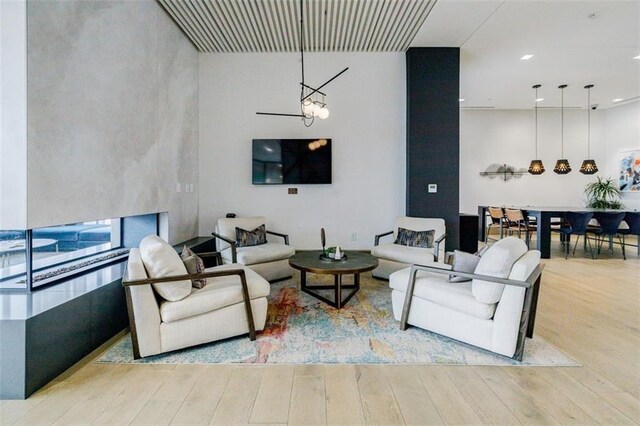
<path fill-rule="evenodd" d="M 617 169 L 610 167 L 608 158 L 619 151 L 621 142 L 611 137 L 610 128 L 618 124 L 605 120 L 608 114 L 607 110 L 591 113 L 591 157 L 600 168 L 595 176 L 617 179 Z M 539 176 L 527 173 L 505 182 L 500 177 L 480 176 L 479 172 L 493 163 L 525 170 L 529 167 L 535 155 L 533 110 L 461 110 L 460 211 L 477 213 L 478 205 L 584 206 L 584 188 L 595 180 L 595 176 L 579 172 L 587 157 L 587 111 L 565 109 L 564 115 L 564 155 L 571 173 L 553 172 L 561 151 L 560 110 L 539 109 L 538 157 L 546 172 Z M 625 114 L 620 121 L 629 126 L 631 118 Z M 636 135 L 637 123 L 636 118 Z"/>

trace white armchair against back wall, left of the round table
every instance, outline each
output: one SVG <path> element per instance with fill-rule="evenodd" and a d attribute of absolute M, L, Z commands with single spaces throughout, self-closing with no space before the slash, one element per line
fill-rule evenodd
<path fill-rule="evenodd" d="M 284 244 L 269 241 L 256 246 L 238 247 L 236 227 L 252 231 L 265 223 L 264 216 L 222 218 L 218 219 L 218 226 L 212 235 L 216 237 L 224 263 L 247 265 L 267 281 L 288 278 L 293 273 L 289 258 L 296 252 L 289 246 L 288 235 L 267 230 L 267 234 L 282 238 Z"/>

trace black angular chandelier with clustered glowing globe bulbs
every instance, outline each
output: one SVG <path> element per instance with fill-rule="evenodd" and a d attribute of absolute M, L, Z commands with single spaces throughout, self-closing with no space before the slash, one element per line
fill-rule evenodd
<path fill-rule="evenodd" d="M 327 108 L 326 94 L 321 92 L 327 84 L 338 78 L 349 67 L 343 69 L 338 74 L 331 77 L 325 83 L 321 84 L 317 88 L 309 86 L 304 82 L 304 19 L 303 19 L 303 0 L 300 0 L 300 62 L 302 69 L 302 80 L 300 82 L 300 114 L 289 114 L 279 112 L 256 112 L 258 115 L 275 115 L 281 117 L 301 117 L 302 122 L 306 127 L 310 127 L 315 118 L 318 117 L 321 120 L 329 117 L 329 109 Z"/>

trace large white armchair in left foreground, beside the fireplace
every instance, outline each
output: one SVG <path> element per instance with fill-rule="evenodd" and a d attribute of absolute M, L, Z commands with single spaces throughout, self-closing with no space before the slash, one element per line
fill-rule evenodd
<path fill-rule="evenodd" d="M 203 288 L 191 280 L 206 278 Z M 155 235 L 129 252 L 122 280 L 135 359 L 264 329 L 269 283 L 243 265 L 187 274 L 178 253 Z"/>

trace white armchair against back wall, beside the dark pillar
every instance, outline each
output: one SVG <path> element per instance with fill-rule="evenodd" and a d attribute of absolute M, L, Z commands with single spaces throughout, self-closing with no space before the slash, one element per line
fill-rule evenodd
<path fill-rule="evenodd" d="M 434 230 L 433 248 L 407 247 L 394 242 L 380 244 L 380 239 L 393 235 L 395 241 L 398 237 L 398 228 L 412 231 Z M 374 277 L 389 279 L 395 271 L 405 269 L 412 264 L 424 265 L 437 262 L 441 254 L 444 254 L 444 244 L 446 239 L 446 228 L 443 219 L 430 219 L 422 217 L 400 217 L 396 220 L 393 231 L 385 232 L 375 236 L 374 247 L 371 255 L 378 258 L 378 267 L 371 274 Z"/>

